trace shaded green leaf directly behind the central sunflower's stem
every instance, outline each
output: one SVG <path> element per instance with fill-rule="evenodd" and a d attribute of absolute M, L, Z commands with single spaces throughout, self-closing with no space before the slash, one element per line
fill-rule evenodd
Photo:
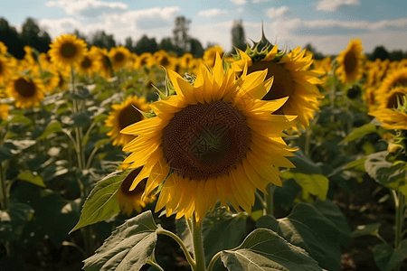
<path fill-rule="evenodd" d="M 208 264 L 219 251 L 236 248 L 241 243 L 245 235 L 246 219 L 242 214 L 221 207 L 206 215 L 202 229 L 205 260 Z M 186 248 L 192 252 L 191 234 L 185 219 L 176 220 L 176 233 L 183 239 Z"/>

